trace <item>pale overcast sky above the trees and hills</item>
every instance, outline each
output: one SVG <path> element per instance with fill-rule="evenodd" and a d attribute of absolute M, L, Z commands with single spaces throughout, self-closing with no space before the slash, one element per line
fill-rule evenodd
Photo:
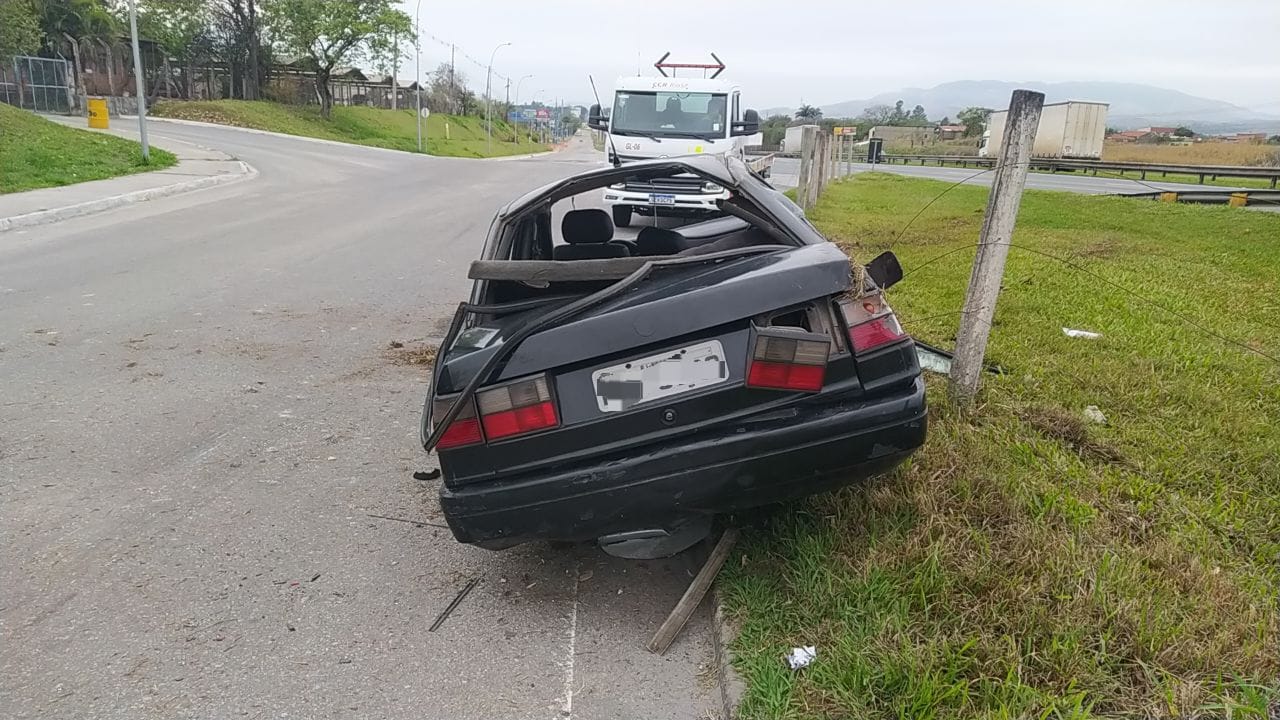
<path fill-rule="evenodd" d="M 1002 79 L 1140 82 L 1280 114 L 1280 0 L 426 0 L 421 13 L 424 73 L 449 56 L 425 33 L 457 44 L 479 90 L 484 68 L 461 54 L 483 65 L 511 42 L 494 72 L 513 78 L 513 100 L 515 78 L 532 73 L 524 101 L 590 102 L 588 73 L 605 96 L 671 50 L 686 61 L 714 51 L 759 109 Z"/>

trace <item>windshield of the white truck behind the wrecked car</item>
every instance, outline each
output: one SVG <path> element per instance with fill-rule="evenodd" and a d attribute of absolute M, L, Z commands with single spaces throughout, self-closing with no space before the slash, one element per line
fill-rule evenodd
<path fill-rule="evenodd" d="M 609 132 L 657 137 L 728 137 L 727 95 L 618 92 Z"/>

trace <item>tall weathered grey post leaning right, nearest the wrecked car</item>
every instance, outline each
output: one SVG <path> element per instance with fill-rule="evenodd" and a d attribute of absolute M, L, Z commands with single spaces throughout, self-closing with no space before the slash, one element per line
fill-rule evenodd
<path fill-rule="evenodd" d="M 996 177 L 987 197 L 978 256 L 973 260 L 969 291 L 960 315 L 960 332 L 956 336 L 955 361 L 951 364 L 951 395 L 965 404 L 972 404 L 978 393 L 982 360 L 987 352 L 991 322 L 996 316 L 1000 282 L 1005 275 L 1005 260 L 1018 223 L 1018 208 L 1023 201 L 1023 187 L 1027 186 L 1032 146 L 1036 143 L 1036 128 L 1043 106 L 1044 94 L 1030 90 L 1015 90 L 1009 102 Z"/>

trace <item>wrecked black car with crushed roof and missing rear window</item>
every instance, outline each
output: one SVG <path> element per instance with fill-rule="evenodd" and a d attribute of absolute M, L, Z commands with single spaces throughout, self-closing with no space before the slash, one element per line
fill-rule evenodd
<path fill-rule="evenodd" d="M 623 231 L 585 206 L 685 173 L 730 192 L 722 217 Z M 736 159 L 594 169 L 509 204 L 422 418 L 454 537 L 617 548 L 901 462 L 924 383 L 876 275 Z"/>

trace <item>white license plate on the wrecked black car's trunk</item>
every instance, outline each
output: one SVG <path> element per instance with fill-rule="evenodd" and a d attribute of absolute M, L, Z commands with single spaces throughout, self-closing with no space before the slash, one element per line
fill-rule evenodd
<path fill-rule="evenodd" d="M 591 373 L 600 413 L 621 413 L 726 380 L 728 364 L 718 340 L 637 357 Z"/>

